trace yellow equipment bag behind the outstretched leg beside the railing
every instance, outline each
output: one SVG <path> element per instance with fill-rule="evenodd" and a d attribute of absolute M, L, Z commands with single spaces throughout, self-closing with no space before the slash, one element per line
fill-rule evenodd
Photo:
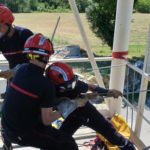
<path fill-rule="evenodd" d="M 121 115 L 116 114 L 112 119 L 111 123 L 114 126 L 114 128 L 125 138 L 129 139 L 131 136 L 131 131 L 126 123 L 126 121 L 123 119 Z M 105 146 L 108 150 L 120 150 L 120 148 L 116 145 L 112 145 L 110 142 L 108 142 L 101 134 L 97 133 L 97 136 L 100 138 L 101 141 L 104 142 Z"/>

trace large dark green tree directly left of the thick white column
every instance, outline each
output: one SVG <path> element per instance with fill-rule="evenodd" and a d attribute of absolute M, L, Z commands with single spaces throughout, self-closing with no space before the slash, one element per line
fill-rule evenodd
<path fill-rule="evenodd" d="M 117 0 L 91 0 L 86 9 L 86 16 L 92 31 L 111 48 L 113 46 L 116 5 Z"/>

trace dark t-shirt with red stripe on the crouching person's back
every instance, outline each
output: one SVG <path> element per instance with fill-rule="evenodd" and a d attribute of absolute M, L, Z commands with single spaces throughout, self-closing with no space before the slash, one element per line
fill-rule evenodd
<path fill-rule="evenodd" d="M 43 76 L 43 69 L 24 64 L 8 88 L 2 109 L 6 130 L 24 133 L 40 121 L 40 109 L 50 108 L 55 100 L 55 87 Z"/>

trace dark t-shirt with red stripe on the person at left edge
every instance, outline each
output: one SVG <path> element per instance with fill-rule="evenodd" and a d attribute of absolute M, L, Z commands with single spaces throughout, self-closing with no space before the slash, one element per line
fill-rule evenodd
<path fill-rule="evenodd" d="M 9 62 L 9 67 L 13 68 L 18 64 L 27 63 L 26 54 L 23 54 L 24 44 L 33 33 L 21 27 L 15 27 L 12 37 L 4 36 L 0 38 L 0 51 Z"/>

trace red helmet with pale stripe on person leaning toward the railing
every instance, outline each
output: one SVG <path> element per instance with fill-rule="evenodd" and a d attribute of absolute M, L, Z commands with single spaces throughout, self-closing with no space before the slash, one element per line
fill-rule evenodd
<path fill-rule="evenodd" d="M 51 64 L 46 71 L 47 76 L 62 89 L 73 89 L 76 86 L 77 76 L 72 68 L 62 62 Z"/>

